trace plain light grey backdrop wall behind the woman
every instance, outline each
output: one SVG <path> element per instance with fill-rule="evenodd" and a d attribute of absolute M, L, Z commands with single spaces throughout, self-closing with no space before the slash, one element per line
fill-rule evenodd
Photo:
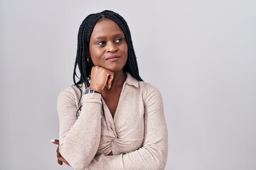
<path fill-rule="evenodd" d="M 256 169 L 256 1 L 0 0 L 0 169 L 59 166 L 56 99 L 78 28 L 110 9 L 164 98 L 171 170 Z"/>

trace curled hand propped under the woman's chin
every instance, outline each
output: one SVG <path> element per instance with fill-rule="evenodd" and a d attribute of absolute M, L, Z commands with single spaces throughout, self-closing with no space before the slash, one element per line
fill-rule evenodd
<path fill-rule="evenodd" d="M 110 89 L 112 80 L 114 79 L 114 73 L 108 69 L 94 66 L 92 67 L 90 78 L 90 89 L 98 91 L 101 94 L 105 87 Z"/>

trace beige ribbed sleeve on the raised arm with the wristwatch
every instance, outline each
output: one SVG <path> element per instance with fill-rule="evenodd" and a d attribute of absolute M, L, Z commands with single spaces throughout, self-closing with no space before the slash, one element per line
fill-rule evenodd
<path fill-rule="evenodd" d="M 82 108 L 77 118 L 78 101 L 69 87 L 60 92 L 57 102 L 60 123 L 60 154 L 75 169 L 85 169 L 95 157 L 100 144 L 101 95 L 82 96 Z"/>

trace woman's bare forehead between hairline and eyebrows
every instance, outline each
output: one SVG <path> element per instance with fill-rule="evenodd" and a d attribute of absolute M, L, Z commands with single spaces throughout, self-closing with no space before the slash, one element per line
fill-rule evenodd
<path fill-rule="evenodd" d="M 110 19 L 102 19 L 98 21 L 95 25 L 95 28 L 92 30 L 91 38 L 101 37 L 101 36 L 112 36 L 122 34 L 122 29 Z"/>

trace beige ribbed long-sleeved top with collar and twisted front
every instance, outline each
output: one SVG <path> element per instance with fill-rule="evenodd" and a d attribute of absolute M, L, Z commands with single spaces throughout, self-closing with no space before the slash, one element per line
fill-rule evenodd
<path fill-rule="evenodd" d="M 127 73 L 114 119 L 100 94 L 58 96 L 60 154 L 75 169 L 164 169 L 168 134 L 160 92 Z M 102 116 L 102 102 L 106 120 Z M 79 117 L 76 112 L 79 106 Z M 107 156 L 112 151 L 112 156 Z"/>

